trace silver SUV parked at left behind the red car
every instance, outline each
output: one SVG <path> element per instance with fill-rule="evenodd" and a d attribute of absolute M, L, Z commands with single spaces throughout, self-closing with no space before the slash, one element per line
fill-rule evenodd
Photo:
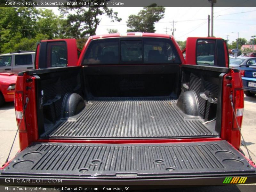
<path fill-rule="evenodd" d="M 34 51 L 18 51 L 0 55 L 0 73 L 18 74 L 35 69 Z"/>

